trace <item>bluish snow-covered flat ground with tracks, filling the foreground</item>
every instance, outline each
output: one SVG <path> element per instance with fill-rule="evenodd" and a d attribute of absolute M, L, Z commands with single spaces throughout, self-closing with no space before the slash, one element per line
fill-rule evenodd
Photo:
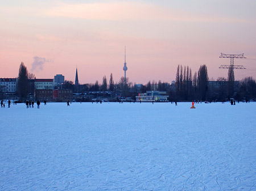
<path fill-rule="evenodd" d="M 256 103 L 0 108 L 0 190 L 256 190 Z"/>

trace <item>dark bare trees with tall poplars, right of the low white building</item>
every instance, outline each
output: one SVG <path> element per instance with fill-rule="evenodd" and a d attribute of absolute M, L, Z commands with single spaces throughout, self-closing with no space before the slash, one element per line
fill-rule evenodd
<path fill-rule="evenodd" d="M 209 81 L 206 65 L 201 65 L 193 77 L 189 66 L 178 65 L 175 88 L 169 93 L 177 101 L 255 100 L 256 82 L 253 77 L 246 77 L 235 83 L 232 69 L 228 72 L 228 80 L 219 77 Z"/>

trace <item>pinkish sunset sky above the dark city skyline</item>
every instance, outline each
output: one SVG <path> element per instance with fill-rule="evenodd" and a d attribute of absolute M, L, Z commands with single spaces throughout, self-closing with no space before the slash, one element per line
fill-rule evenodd
<path fill-rule="evenodd" d="M 236 80 L 256 78 L 256 1 L 1 1 L 0 78 L 18 77 L 24 62 L 36 78 L 63 74 L 75 83 L 175 80 L 177 65 L 209 79 L 228 76 L 222 53 L 235 59 Z"/>

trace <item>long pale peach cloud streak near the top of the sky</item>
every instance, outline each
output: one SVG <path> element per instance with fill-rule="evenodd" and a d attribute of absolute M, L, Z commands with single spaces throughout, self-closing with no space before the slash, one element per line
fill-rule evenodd
<path fill-rule="evenodd" d="M 63 3 L 46 11 L 49 16 L 88 20 L 166 20 L 177 22 L 246 22 L 238 18 L 205 15 L 138 2 Z"/>

